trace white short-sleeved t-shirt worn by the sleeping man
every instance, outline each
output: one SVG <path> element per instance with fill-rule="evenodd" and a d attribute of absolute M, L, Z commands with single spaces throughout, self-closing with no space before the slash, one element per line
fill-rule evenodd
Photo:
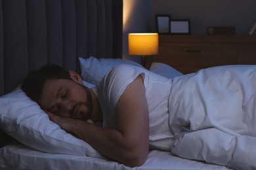
<path fill-rule="evenodd" d="M 131 84 L 141 75 L 146 89 L 150 120 L 150 147 L 170 150 L 173 132 L 169 128 L 168 101 L 171 92 L 171 79 L 131 65 L 117 65 L 96 85 L 103 114 L 103 127 L 116 128 L 116 103 Z"/>

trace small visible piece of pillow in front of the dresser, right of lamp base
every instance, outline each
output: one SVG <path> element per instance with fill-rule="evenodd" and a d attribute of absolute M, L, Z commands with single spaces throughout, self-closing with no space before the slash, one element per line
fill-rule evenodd
<path fill-rule="evenodd" d="M 167 78 L 175 78 L 176 76 L 183 75 L 181 72 L 164 63 L 152 63 L 150 71 Z"/>

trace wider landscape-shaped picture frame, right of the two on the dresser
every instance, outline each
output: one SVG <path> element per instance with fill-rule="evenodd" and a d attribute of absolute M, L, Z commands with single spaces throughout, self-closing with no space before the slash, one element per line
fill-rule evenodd
<path fill-rule="evenodd" d="M 171 20 L 171 34 L 190 34 L 190 20 Z"/>

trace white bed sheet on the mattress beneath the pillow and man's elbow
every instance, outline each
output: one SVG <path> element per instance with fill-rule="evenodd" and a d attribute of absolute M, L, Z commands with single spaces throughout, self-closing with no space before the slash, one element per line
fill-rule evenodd
<path fill-rule="evenodd" d="M 12 143 L 0 148 L 0 167 L 19 169 L 228 169 L 203 161 L 185 160 L 170 152 L 152 150 L 144 165 L 130 168 L 116 161 L 85 156 L 48 154 L 32 150 L 20 143 Z"/>

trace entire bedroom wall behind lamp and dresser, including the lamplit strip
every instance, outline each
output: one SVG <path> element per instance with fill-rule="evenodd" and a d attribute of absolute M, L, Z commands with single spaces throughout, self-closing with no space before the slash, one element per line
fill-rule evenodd
<path fill-rule="evenodd" d="M 155 32 L 156 14 L 190 19 L 193 35 L 206 34 L 207 26 L 235 26 L 236 34 L 249 32 L 256 22 L 255 0 L 123 0 L 123 58 L 128 54 L 128 33 Z"/>

